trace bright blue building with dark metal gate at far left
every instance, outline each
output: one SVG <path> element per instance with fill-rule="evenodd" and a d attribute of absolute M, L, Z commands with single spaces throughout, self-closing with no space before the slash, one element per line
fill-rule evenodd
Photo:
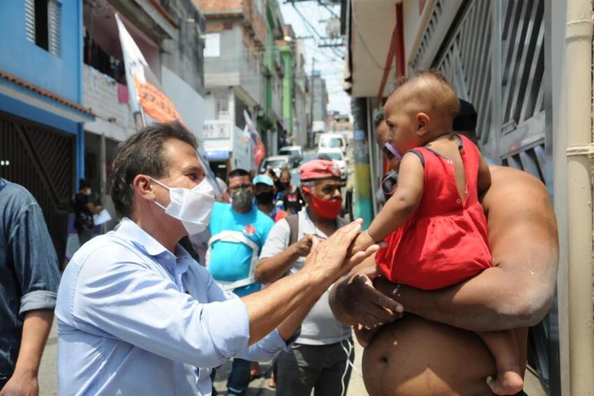
<path fill-rule="evenodd" d="M 3 2 L 0 53 L 0 176 L 31 191 L 64 257 L 94 119 L 82 100 L 82 2 Z"/>

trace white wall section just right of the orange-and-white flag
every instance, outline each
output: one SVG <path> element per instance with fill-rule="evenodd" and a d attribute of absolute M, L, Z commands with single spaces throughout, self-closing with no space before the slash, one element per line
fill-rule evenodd
<path fill-rule="evenodd" d="M 184 124 L 196 137 L 201 138 L 202 126 L 206 118 L 204 98 L 166 66 L 161 66 L 161 85 L 165 94 L 178 109 Z"/>

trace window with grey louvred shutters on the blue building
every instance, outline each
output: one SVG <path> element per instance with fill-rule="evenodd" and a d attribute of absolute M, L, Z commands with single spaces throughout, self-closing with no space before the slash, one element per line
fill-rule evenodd
<path fill-rule="evenodd" d="M 60 11 L 56 0 L 25 0 L 24 19 L 27 40 L 60 56 Z"/>

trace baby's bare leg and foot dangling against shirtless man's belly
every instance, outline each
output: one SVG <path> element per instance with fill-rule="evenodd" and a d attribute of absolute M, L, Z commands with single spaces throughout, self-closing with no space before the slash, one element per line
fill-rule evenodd
<path fill-rule="evenodd" d="M 516 335 L 512 330 L 477 334 L 493 353 L 497 365 L 497 379 L 488 377 L 488 386 L 495 395 L 515 395 L 524 385 L 521 367 L 518 364 Z"/>

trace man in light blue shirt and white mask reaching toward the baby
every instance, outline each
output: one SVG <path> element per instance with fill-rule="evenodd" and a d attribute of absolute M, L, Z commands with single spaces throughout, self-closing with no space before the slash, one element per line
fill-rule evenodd
<path fill-rule="evenodd" d="M 378 248 L 345 258 L 361 229 L 352 223 L 298 274 L 238 298 L 178 244 L 208 224 L 203 179 L 181 124 L 149 126 L 119 146 L 111 196 L 122 223 L 78 250 L 59 286 L 60 395 L 210 395 L 212 367 L 286 351 L 321 294 Z"/>

